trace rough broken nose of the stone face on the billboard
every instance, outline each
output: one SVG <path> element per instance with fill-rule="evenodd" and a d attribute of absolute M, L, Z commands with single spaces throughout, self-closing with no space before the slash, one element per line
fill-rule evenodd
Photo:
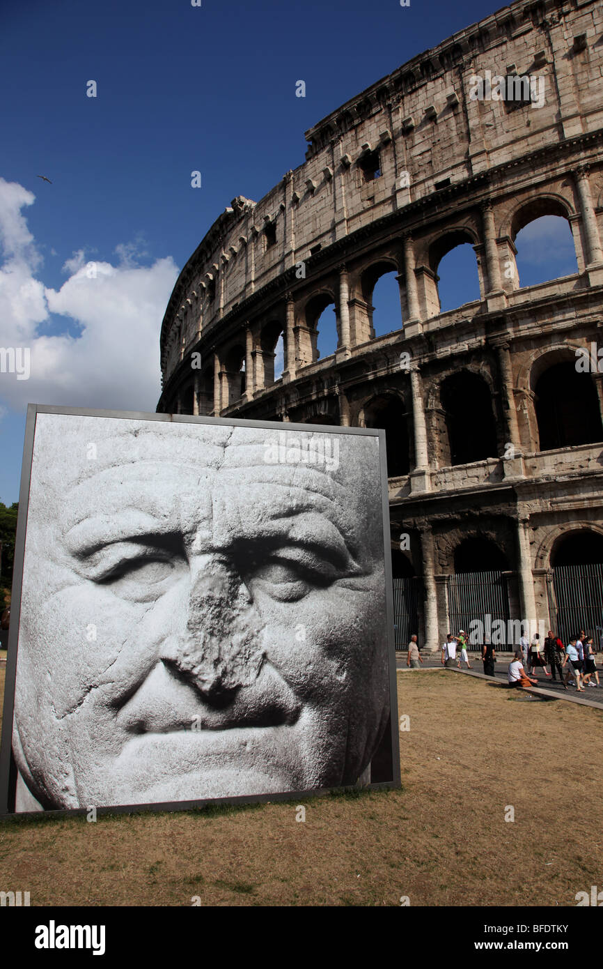
<path fill-rule="evenodd" d="M 217 705 L 251 686 L 263 663 L 263 624 L 242 579 L 222 561 L 209 561 L 191 588 L 186 628 L 169 637 L 166 666 Z"/>

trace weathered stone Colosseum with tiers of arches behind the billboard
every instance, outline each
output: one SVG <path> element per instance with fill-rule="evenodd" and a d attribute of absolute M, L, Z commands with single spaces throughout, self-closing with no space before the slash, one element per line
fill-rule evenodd
<path fill-rule="evenodd" d="M 398 646 L 476 617 L 603 634 L 602 75 L 594 0 L 487 16 L 311 128 L 169 299 L 158 411 L 385 429 Z M 575 271 L 522 286 L 515 240 L 544 216 Z M 467 243 L 479 295 L 443 311 Z"/>

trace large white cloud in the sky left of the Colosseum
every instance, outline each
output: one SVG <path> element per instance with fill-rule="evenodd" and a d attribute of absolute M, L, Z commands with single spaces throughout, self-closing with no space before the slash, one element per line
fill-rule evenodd
<path fill-rule="evenodd" d="M 29 347 L 31 376 L 0 375 L 2 401 L 13 410 L 28 401 L 114 410 L 154 411 L 160 394 L 159 333 L 178 275 L 171 257 L 138 266 L 140 240 L 116 247 L 118 266 L 96 261 L 90 270 L 83 249 L 64 269 L 57 291 L 37 270 L 42 259 L 20 209 L 35 196 L 0 178 L 0 346 Z M 39 325 L 60 314 L 74 329 L 41 334 Z M 54 321 L 55 322 L 55 321 Z"/>

